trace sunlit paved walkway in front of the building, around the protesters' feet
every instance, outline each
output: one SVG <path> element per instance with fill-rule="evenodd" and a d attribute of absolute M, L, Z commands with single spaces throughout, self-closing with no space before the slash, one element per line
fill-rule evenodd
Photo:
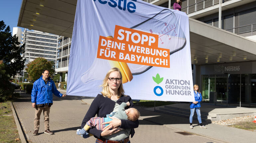
<path fill-rule="evenodd" d="M 65 90 L 61 90 L 62 93 Z M 91 143 L 94 137 L 83 139 L 75 134 L 80 128 L 81 121 L 88 110 L 93 98 L 81 96 L 54 97 L 54 104 L 50 113 L 50 129 L 53 135 L 44 134 L 43 114 L 41 115 L 41 127 L 39 135 L 34 132 L 34 112 L 31 106 L 30 95 L 22 95 L 13 102 L 19 120 L 22 124 L 26 138 L 31 143 Z M 135 105 L 136 107 L 136 105 Z M 132 143 L 159 142 L 159 143 L 250 143 L 255 142 L 255 132 L 226 127 L 216 124 L 206 125 L 208 129 L 194 126 L 189 128 L 189 119 L 162 113 L 157 113 L 142 108 L 137 108 L 141 117 L 139 127 L 135 129 L 135 135 L 131 138 Z M 207 123 L 205 123 L 207 124 Z M 182 135 L 177 132 L 188 131 L 191 135 Z"/>

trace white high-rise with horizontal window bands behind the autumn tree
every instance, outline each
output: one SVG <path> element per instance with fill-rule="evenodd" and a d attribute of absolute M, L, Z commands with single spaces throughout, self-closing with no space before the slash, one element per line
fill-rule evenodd
<path fill-rule="evenodd" d="M 23 57 L 26 58 L 25 65 L 37 57 L 43 57 L 48 61 L 53 61 L 56 66 L 58 37 L 58 35 L 25 28 L 22 40 L 23 43 L 26 43 L 23 54 Z"/>

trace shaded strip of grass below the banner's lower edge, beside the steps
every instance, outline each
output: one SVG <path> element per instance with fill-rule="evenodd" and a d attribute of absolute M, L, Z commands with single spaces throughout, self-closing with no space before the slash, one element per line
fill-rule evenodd
<path fill-rule="evenodd" d="M 155 101 L 153 100 L 140 100 L 138 103 L 133 101 L 135 107 L 136 106 L 143 106 L 143 107 L 154 107 Z M 171 101 L 156 101 L 156 107 L 157 106 L 164 106 L 164 105 L 170 105 L 170 104 L 176 104 L 175 102 Z"/>

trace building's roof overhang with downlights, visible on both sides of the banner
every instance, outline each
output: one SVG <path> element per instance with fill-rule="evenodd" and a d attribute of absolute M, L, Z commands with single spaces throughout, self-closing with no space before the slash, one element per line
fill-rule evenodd
<path fill-rule="evenodd" d="M 76 3 L 76 0 L 51 0 L 41 7 L 40 0 L 23 0 L 17 26 L 72 37 Z M 256 41 L 192 18 L 189 18 L 189 25 L 192 64 L 256 61 Z M 236 56 L 232 56 L 233 52 Z M 222 56 L 217 62 L 220 53 Z M 206 56 L 208 63 L 205 63 Z"/>

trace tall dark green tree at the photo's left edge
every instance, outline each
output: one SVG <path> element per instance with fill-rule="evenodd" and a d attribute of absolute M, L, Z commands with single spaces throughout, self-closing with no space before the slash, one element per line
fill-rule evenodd
<path fill-rule="evenodd" d="M 10 26 L 0 21 L 0 100 L 7 100 L 12 97 L 13 87 L 9 80 L 24 68 L 26 59 L 21 54 L 25 52 L 25 44 L 22 46 L 16 35 L 12 36 Z"/>

